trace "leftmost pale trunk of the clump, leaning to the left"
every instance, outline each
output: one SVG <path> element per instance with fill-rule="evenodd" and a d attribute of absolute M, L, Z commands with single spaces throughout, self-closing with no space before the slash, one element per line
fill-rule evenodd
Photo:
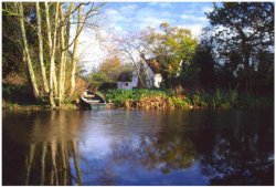
<path fill-rule="evenodd" d="M 19 14 L 20 14 L 20 29 L 21 29 L 21 37 L 22 37 L 22 46 L 23 46 L 23 53 L 25 55 L 25 60 L 26 60 L 26 64 L 28 64 L 28 72 L 30 75 L 30 80 L 31 80 L 31 85 L 32 85 L 32 91 L 33 91 L 33 95 L 35 98 L 40 97 L 40 93 L 39 93 L 39 89 L 38 89 L 38 84 L 36 84 L 36 79 L 35 79 L 35 74 L 33 71 L 33 66 L 32 66 L 32 61 L 31 61 L 31 56 L 29 53 L 29 48 L 28 48 L 28 41 L 26 41 L 26 35 L 25 35 L 25 27 L 24 27 L 24 10 L 23 10 L 23 4 L 22 2 L 19 2 L 18 4 L 18 9 L 19 9 Z"/>

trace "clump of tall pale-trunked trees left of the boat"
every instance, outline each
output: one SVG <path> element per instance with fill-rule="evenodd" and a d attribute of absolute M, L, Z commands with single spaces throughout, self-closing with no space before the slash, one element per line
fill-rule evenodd
<path fill-rule="evenodd" d="M 17 43 L 17 48 L 20 46 L 17 50 L 23 61 L 25 61 L 25 72 L 36 98 L 44 98 L 43 92 L 45 92 L 47 93 L 50 105 L 55 107 L 56 105 L 62 105 L 64 98 L 70 96 L 70 94 L 65 95 L 66 87 L 74 92 L 75 80 L 78 73 L 76 71 L 78 38 L 86 24 L 92 25 L 87 20 L 98 14 L 98 8 L 103 4 L 76 3 L 74 6 L 74 3 L 65 2 L 45 2 L 44 6 L 40 3 L 24 3 L 23 7 L 23 3 L 4 3 L 4 18 L 8 18 L 4 21 L 14 18 L 15 21 L 10 24 L 14 24 L 14 30 L 20 30 L 21 35 L 21 38 L 18 38 L 18 34 L 14 33 L 11 35 L 7 33 L 9 30 L 6 29 L 6 39 Z M 84 6 L 86 7 L 85 9 L 83 9 Z M 23 8 L 28 9 L 24 11 Z M 73 15 L 76 12 L 78 12 L 79 18 L 73 21 Z M 53 21 L 51 22 L 50 20 Z M 76 33 L 71 34 L 71 24 L 75 23 L 77 23 L 78 29 Z M 11 28 L 10 24 L 9 29 Z M 43 45 L 47 48 L 43 48 Z M 71 46 L 73 46 L 73 52 L 70 51 Z M 70 61 L 72 61 L 72 65 L 66 65 Z M 6 66 L 9 65 L 7 64 Z M 38 69 L 41 71 L 35 72 Z M 65 71 L 74 72 L 73 87 L 71 86 L 71 81 L 65 81 Z M 67 77 L 71 80 L 70 75 Z"/>

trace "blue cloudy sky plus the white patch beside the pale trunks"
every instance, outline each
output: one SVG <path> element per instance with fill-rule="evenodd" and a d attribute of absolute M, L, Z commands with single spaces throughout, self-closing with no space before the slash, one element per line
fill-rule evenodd
<path fill-rule="evenodd" d="M 162 22 L 187 28 L 194 37 L 209 24 L 204 12 L 213 9 L 212 2 L 107 2 L 99 9 L 99 33 L 109 35 L 139 33 L 147 27 L 158 28 Z M 81 34 L 79 56 L 87 71 L 98 66 L 108 55 L 107 46 L 93 32 Z"/>

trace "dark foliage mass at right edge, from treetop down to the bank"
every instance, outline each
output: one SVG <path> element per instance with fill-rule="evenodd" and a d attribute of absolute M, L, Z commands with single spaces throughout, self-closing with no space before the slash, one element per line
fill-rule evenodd
<path fill-rule="evenodd" d="M 247 93 L 273 93 L 274 3 L 223 2 L 206 15 L 221 64 L 220 85 L 238 83 Z"/>

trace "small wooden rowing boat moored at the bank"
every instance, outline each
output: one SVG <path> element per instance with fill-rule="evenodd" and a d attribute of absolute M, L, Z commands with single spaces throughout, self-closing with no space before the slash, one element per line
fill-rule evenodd
<path fill-rule="evenodd" d="M 89 110 L 105 110 L 107 105 L 105 98 L 88 90 L 83 92 L 81 102 L 82 106 Z"/>

